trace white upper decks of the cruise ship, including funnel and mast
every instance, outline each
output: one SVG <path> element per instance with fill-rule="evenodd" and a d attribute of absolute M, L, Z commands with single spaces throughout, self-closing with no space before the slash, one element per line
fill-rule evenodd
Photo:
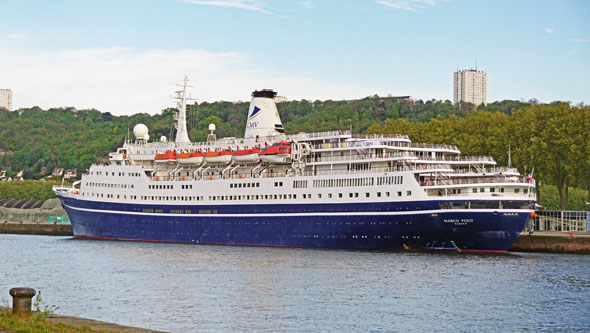
<path fill-rule="evenodd" d="M 190 142 L 182 134 L 183 107 L 175 142 L 149 142 L 147 127 L 139 124 L 136 140 L 109 154 L 110 165 L 91 166 L 76 193 L 136 203 L 535 198 L 532 183 L 516 169 L 498 168 L 488 156 L 462 156 L 456 146 L 413 143 L 395 134 L 285 135 L 274 95 L 253 93 L 245 138 Z M 239 151 L 245 153 L 237 156 Z M 190 160 L 198 163 L 178 162 L 188 153 L 199 154 Z"/>

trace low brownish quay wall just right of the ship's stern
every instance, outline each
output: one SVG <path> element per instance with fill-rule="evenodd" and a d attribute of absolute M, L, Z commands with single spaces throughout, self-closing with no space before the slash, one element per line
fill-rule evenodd
<path fill-rule="evenodd" d="M 523 232 L 508 251 L 590 254 L 590 232 Z"/>

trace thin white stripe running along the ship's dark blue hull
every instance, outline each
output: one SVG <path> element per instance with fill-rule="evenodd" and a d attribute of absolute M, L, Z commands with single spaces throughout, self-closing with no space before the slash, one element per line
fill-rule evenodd
<path fill-rule="evenodd" d="M 532 213 L 530 209 L 437 209 L 437 210 L 414 210 L 404 212 L 301 212 L 301 213 L 251 213 L 251 214 L 171 214 L 171 213 L 145 213 L 129 212 L 118 210 L 101 210 L 90 208 L 78 208 L 69 205 L 65 207 L 73 210 L 106 213 L 106 214 L 124 214 L 124 215 L 143 215 L 143 216 L 179 216 L 179 217 L 273 217 L 273 216 L 387 216 L 387 215 L 417 215 L 417 214 L 440 214 L 440 213 Z"/>

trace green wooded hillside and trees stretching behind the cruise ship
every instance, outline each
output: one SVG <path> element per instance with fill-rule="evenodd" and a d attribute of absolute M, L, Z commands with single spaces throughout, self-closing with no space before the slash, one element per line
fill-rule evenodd
<path fill-rule="evenodd" d="M 248 105 L 189 105 L 191 140 L 204 141 L 210 123 L 217 125 L 218 137 L 242 136 Z M 586 202 L 590 201 L 588 106 L 506 100 L 474 108 L 468 103 L 454 106 L 448 100 L 372 96 L 353 101 L 289 101 L 277 107 L 287 133 L 352 128 L 354 133 L 407 134 L 416 142 L 457 145 L 465 155 L 492 156 L 500 166 L 507 165 L 510 147 L 512 165 L 521 173 L 533 173 L 538 184 L 555 186 L 560 208 L 573 209 L 571 199 L 574 192 L 577 198 L 578 191 L 571 188 L 585 191 Z M 113 116 L 98 110 L 33 107 L 0 110 L 0 122 L 0 167 L 13 173 L 24 170 L 25 179 L 39 179 L 55 167 L 77 169 L 81 174 L 97 160 L 105 161 L 138 123 L 150 128 L 152 139 L 174 135 L 172 109 L 153 116 Z M 545 204 L 544 188 L 537 189 L 541 204 L 553 206 L 553 202 Z"/>

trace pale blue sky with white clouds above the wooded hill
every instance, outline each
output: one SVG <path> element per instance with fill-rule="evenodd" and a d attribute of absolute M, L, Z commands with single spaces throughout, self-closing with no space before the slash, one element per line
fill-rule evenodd
<path fill-rule="evenodd" d="M 590 1 L 0 1 L 0 88 L 13 107 L 156 114 L 186 75 L 199 101 L 411 95 L 590 102 Z"/>

